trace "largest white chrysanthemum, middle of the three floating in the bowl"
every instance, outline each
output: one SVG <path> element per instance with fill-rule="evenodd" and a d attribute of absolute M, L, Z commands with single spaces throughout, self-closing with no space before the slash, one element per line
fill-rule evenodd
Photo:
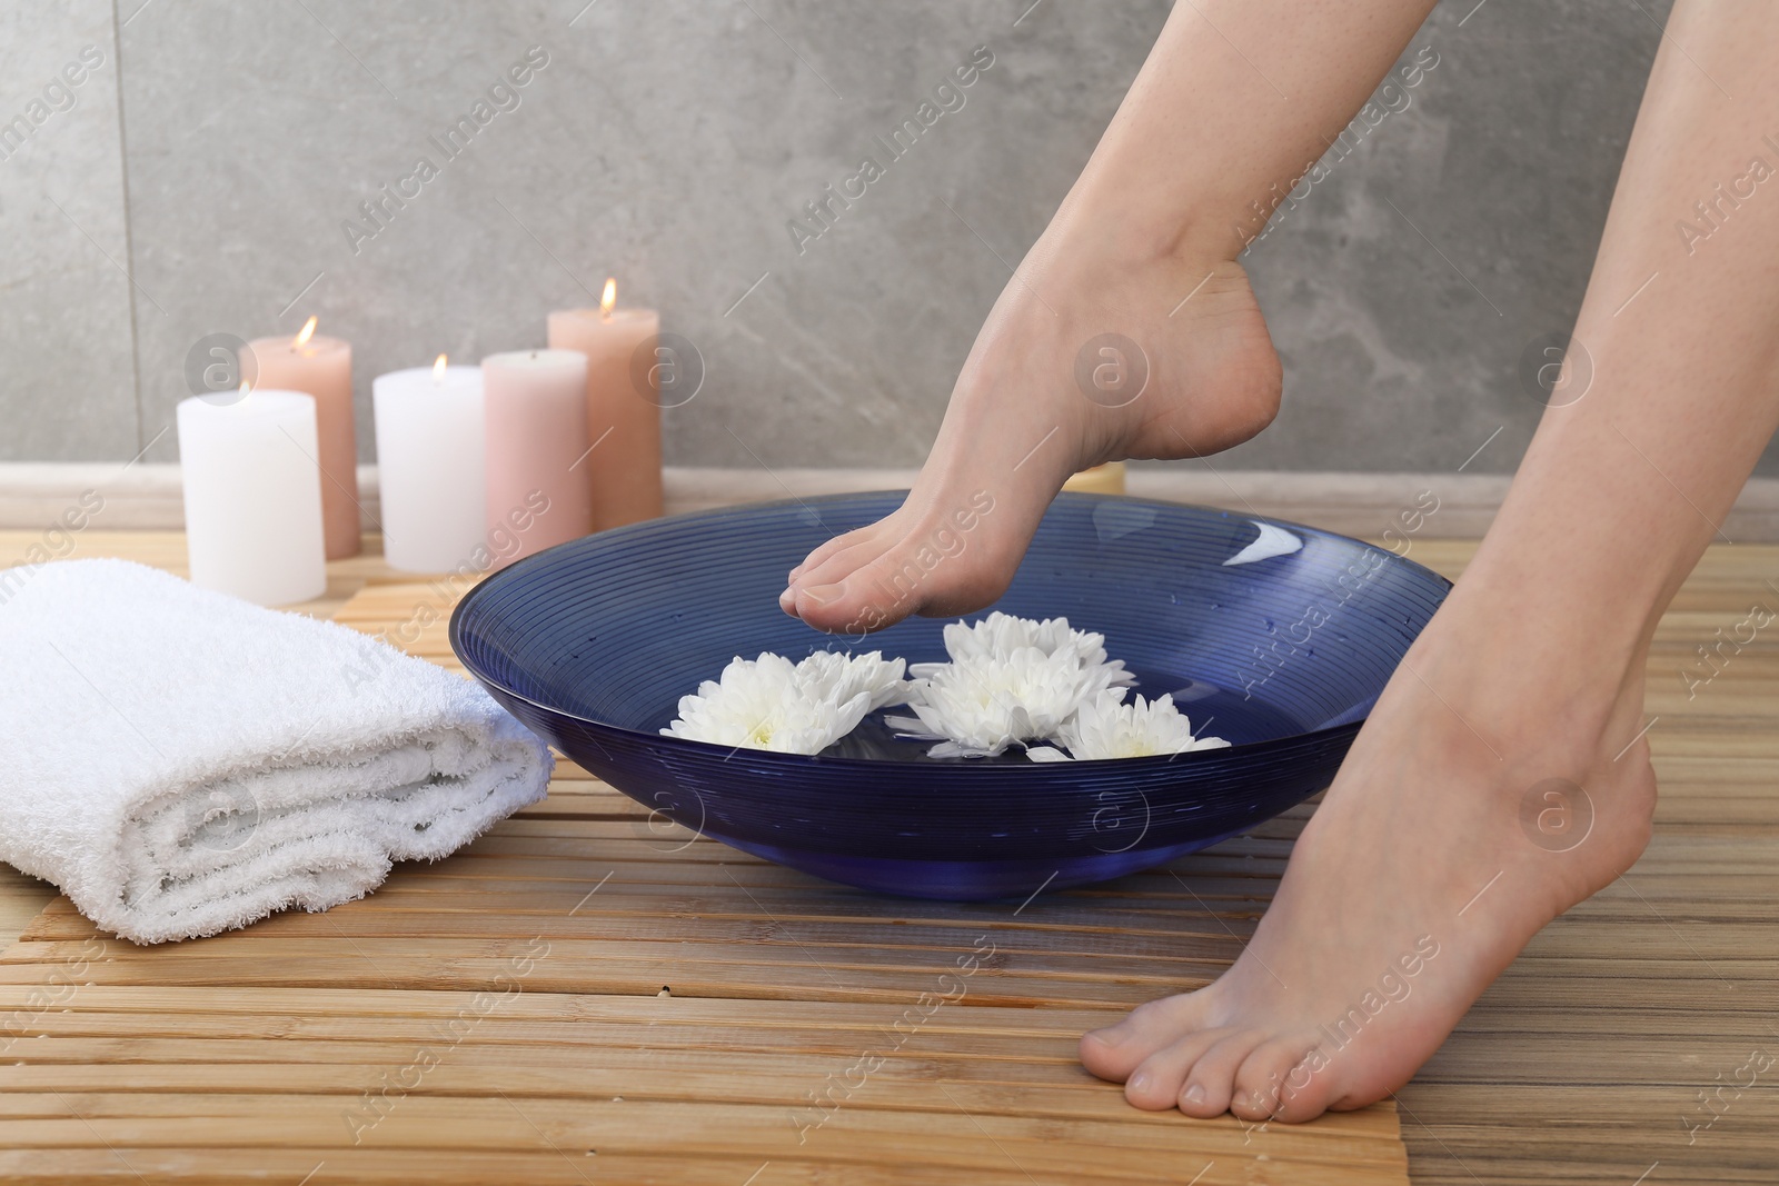
<path fill-rule="evenodd" d="M 932 757 L 989 757 L 1050 738 L 1085 701 L 1133 679 L 1124 663 L 1107 661 L 1105 635 L 1071 629 L 1064 617 L 952 622 L 945 649 L 950 663 L 909 669 L 914 717 L 890 718 L 904 736 L 939 741 Z"/>

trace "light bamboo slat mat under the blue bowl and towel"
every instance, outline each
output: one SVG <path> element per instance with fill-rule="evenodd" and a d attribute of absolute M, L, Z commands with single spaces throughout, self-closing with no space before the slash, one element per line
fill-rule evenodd
<path fill-rule="evenodd" d="M 457 667 L 448 599 L 338 621 Z M 137 948 L 53 900 L 0 955 L 0 1181 L 1405 1182 L 1389 1104 L 1142 1113 L 1082 1030 L 1240 951 L 1306 811 L 1026 903 L 902 902 L 543 804 L 370 898 Z M 966 971 L 968 969 L 968 971 Z"/>

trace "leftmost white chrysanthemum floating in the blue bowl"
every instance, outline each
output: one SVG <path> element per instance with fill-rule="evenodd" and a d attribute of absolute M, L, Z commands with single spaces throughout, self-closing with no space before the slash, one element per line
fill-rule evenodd
<path fill-rule="evenodd" d="M 881 653 L 849 656 L 817 651 L 801 663 L 761 653 L 737 656 L 719 679 L 680 697 L 680 717 L 665 736 L 779 754 L 820 754 L 852 733 L 865 715 L 907 697 L 902 660 Z"/>

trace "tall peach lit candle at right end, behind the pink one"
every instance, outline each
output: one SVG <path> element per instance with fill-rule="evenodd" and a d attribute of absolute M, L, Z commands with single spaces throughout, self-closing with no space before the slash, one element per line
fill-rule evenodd
<path fill-rule="evenodd" d="M 550 315 L 550 345 L 587 356 L 585 469 L 592 528 L 623 526 L 662 512 L 662 409 L 651 350 L 662 318 L 655 309 L 619 309 L 617 281 L 605 281 L 598 309 Z"/>

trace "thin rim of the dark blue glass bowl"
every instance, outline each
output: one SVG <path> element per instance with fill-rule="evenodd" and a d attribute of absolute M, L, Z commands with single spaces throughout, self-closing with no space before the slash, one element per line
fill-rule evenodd
<path fill-rule="evenodd" d="M 509 695 L 514 701 L 523 701 L 525 704 L 530 704 L 530 706 L 534 706 L 534 708 L 537 708 L 537 709 L 541 709 L 544 713 L 550 713 L 553 717 L 562 717 L 562 718 L 578 722 L 582 725 L 591 725 L 591 727 L 594 727 L 598 731 L 603 731 L 603 733 L 608 733 L 608 734 L 616 734 L 616 736 L 623 736 L 626 740 L 646 741 L 646 743 L 653 743 L 653 745 L 667 745 L 671 749 L 681 749 L 688 756 L 726 752 L 726 757 L 722 761 L 728 761 L 729 757 L 738 756 L 740 750 L 742 750 L 742 747 L 724 747 L 724 745 L 717 745 L 713 741 L 696 741 L 692 738 L 680 738 L 680 736 L 672 736 L 672 734 L 667 734 L 667 733 L 649 733 L 649 731 L 644 731 L 644 729 L 630 729 L 626 725 L 614 725 L 614 724 L 608 724 L 608 722 L 603 722 L 603 720 L 594 720 L 591 717 L 584 717 L 580 713 L 573 713 L 573 711 L 569 711 L 566 708 L 559 708 L 555 704 L 544 704 L 543 701 L 528 697 L 523 692 L 518 692 L 516 688 L 511 688 L 511 686 L 507 686 L 505 683 L 502 683 L 498 679 L 491 679 L 491 677 L 484 676 L 480 670 L 477 670 L 470 663 L 468 658 L 464 658 L 464 653 L 463 653 L 461 633 L 463 633 L 464 612 L 470 608 L 470 605 L 477 597 L 484 596 L 484 590 L 487 590 L 487 587 L 491 583 L 495 583 L 496 580 L 503 580 L 503 578 L 507 578 L 507 576 L 511 576 L 511 574 L 514 574 L 514 573 L 518 573 L 518 571 L 521 571 L 525 567 L 535 565 L 535 564 L 543 562 L 544 557 L 550 557 L 551 553 L 560 551 L 564 548 L 584 546 L 585 541 L 589 541 L 589 539 L 596 539 L 596 537 L 598 539 L 621 539 L 624 535 L 642 535 L 642 533 L 646 533 L 649 530 L 658 530 L 662 523 L 685 523 L 685 521 L 696 521 L 696 519 L 712 519 L 712 517 L 729 516 L 729 514 L 735 514 L 738 510 L 770 510 L 774 507 L 801 507 L 804 510 L 813 510 L 817 505 L 822 505 L 822 503 L 836 503 L 836 501 L 863 500 L 863 498 L 891 498 L 891 496 L 897 496 L 897 494 L 900 494 L 900 496 L 906 498 L 909 494 L 909 491 L 906 491 L 906 489 L 840 491 L 840 493 L 834 493 L 834 494 L 813 494 L 811 498 L 792 496 L 792 498 L 774 498 L 774 500 L 767 500 L 767 501 L 731 503 L 731 505 L 724 505 L 724 507 L 706 507 L 703 510 L 687 510 L 687 512 L 674 514 L 674 516 L 660 516 L 660 517 L 655 517 L 655 519 L 640 519 L 637 523 L 626 523 L 623 526 L 607 528 L 603 532 L 591 532 L 587 535 L 576 535 L 575 539 L 562 541 L 560 544 L 551 544 L 550 548 L 544 548 L 543 551 L 535 551 L 535 553 L 532 553 L 532 555 L 528 555 L 528 557 L 525 557 L 521 560 L 516 560 L 514 564 L 509 564 L 503 569 L 496 569 L 496 571 L 489 573 L 487 576 L 484 576 L 482 580 L 479 580 L 475 585 L 471 585 L 470 592 L 466 592 L 463 597 L 459 597 L 457 605 L 452 608 L 450 622 L 447 626 L 447 637 L 450 640 L 450 649 L 457 656 L 457 661 L 463 663 L 464 669 L 479 683 L 486 685 L 491 690 L 498 690 L 502 695 Z M 1389 557 L 1391 560 L 1405 564 L 1411 569 L 1416 569 L 1421 574 L 1432 578 L 1437 585 L 1445 585 L 1443 594 L 1450 594 L 1450 590 L 1453 587 L 1453 583 L 1450 580 L 1446 580 L 1443 574 L 1436 573 L 1434 569 L 1427 567 L 1425 564 L 1421 564 L 1418 560 L 1409 560 L 1407 557 L 1397 555 L 1395 551 L 1391 551 L 1388 548 L 1379 548 L 1375 544 L 1368 544 L 1366 541 L 1356 539 L 1352 535 L 1341 535 L 1340 532 L 1329 532 L 1325 528 L 1309 526 L 1308 523 L 1295 523 L 1292 519 L 1276 519 L 1272 516 L 1258 516 L 1258 514 L 1251 514 L 1251 512 L 1231 510 L 1229 507 L 1208 507 L 1204 503 L 1181 503 L 1181 501 L 1169 501 L 1169 500 L 1162 500 L 1162 498 L 1137 498 L 1137 496 L 1131 496 L 1131 494 L 1101 494 L 1101 493 L 1089 493 L 1089 491 L 1059 491 L 1057 496 L 1055 496 L 1055 500 L 1051 500 L 1051 501 L 1053 503 L 1055 501 L 1137 503 L 1137 505 L 1144 505 L 1144 507 L 1158 507 L 1158 509 L 1167 509 L 1167 510 L 1203 510 L 1203 512 L 1211 512 L 1211 514 L 1233 516 L 1236 519 L 1247 519 L 1249 523 L 1270 523 L 1274 526 L 1288 528 L 1288 530 L 1293 530 L 1293 532 L 1304 532 L 1304 533 L 1309 533 L 1309 535 L 1318 535 L 1322 539 L 1338 541 L 1338 542 L 1343 542 L 1343 544 L 1359 544 L 1361 548 L 1368 548 L 1372 551 L 1381 551 L 1386 557 Z M 1439 603 L 1445 605 L 1445 596 L 1441 596 Z M 1436 606 L 1434 612 L 1437 613 L 1437 606 Z M 1398 660 L 1398 665 L 1400 665 L 1400 660 Z M 1379 693 L 1382 693 L 1382 688 L 1379 690 Z M 1117 770 L 1133 770 L 1135 772 L 1135 770 L 1147 770 L 1151 766 L 1176 763 L 1179 759 L 1187 759 L 1188 765 L 1190 763 L 1204 763 L 1204 761 L 1226 761 L 1233 754 L 1244 754 L 1244 756 L 1247 756 L 1247 754 L 1256 754 L 1256 752 L 1267 750 L 1267 749 L 1277 749 L 1277 747 L 1283 747 L 1283 745 L 1322 743 L 1322 741 L 1334 740 L 1334 738 L 1338 738 L 1343 733 L 1357 733 L 1359 727 L 1370 718 L 1370 715 L 1372 715 L 1370 709 L 1366 709 L 1366 715 L 1361 717 L 1359 720 L 1350 720 L 1350 722 L 1343 722 L 1343 724 L 1338 724 L 1338 725 L 1322 725 L 1318 729 L 1308 729 L 1304 733 L 1292 733 L 1292 734 L 1277 736 L 1277 738 L 1265 738 L 1261 741 L 1244 741 L 1242 745 L 1226 745 L 1226 747 L 1204 749 L 1204 750 L 1181 750 L 1181 752 L 1176 752 L 1176 754 L 1151 754 L 1147 757 L 1069 759 L 1069 761 L 1055 761 L 1055 763 L 1026 763 L 1023 766 L 1016 766 L 1016 765 L 1010 765 L 1010 763 L 957 761 L 957 763 L 945 763 L 939 768 L 943 768 L 943 770 L 959 770 L 959 772 L 961 770 L 980 770 L 980 772 L 1010 772 L 1010 770 L 1021 770 L 1021 772 L 1026 772 L 1030 775 L 1035 775 L 1035 777 L 1042 779 L 1044 772 L 1055 772 L 1055 775 L 1062 775 L 1062 773 L 1067 773 L 1071 770 L 1078 772 L 1078 770 L 1083 770 L 1083 768 L 1087 768 L 1087 770 L 1098 770 L 1098 772 L 1110 772 L 1114 768 L 1117 768 Z M 687 749 L 687 747 L 690 747 L 690 749 Z M 801 763 L 806 763 L 806 765 L 833 766 L 836 770 L 847 770 L 847 768 L 854 768 L 854 770 L 857 770 L 857 768 L 884 770 L 884 768 L 890 768 L 890 766 L 907 765 L 907 763 L 891 763 L 891 761 L 884 761 L 884 759 L 879 759 L 879 757 L 840 757 L 840 756 L 822 756 L 822 754 L 788 754 L 788 752 L 783 752 L 783 750 L 763 750 L 763 749 L 749 749 L 747 750 L 747 757 L 751 757 L 751 759 L 770 757 L 774 763 L 777 763 L 777 761 L 801 761 Z M 922 775 L 925 777 L 932 770 L 934 770 L 932 766 L 922 766 Z"/>

